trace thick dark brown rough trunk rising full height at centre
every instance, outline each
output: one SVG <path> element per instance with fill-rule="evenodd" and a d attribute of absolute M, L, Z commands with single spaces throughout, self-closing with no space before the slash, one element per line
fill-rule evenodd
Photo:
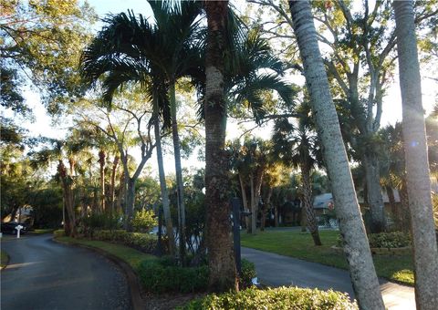
<path fill-rule="evenodd" d="M 228 1 L 205 1 L 207 46 L 205 50 L 205 207 L 209 288 L 238 290 L 233 243 L 225 147 L 224 36 Z"/>

